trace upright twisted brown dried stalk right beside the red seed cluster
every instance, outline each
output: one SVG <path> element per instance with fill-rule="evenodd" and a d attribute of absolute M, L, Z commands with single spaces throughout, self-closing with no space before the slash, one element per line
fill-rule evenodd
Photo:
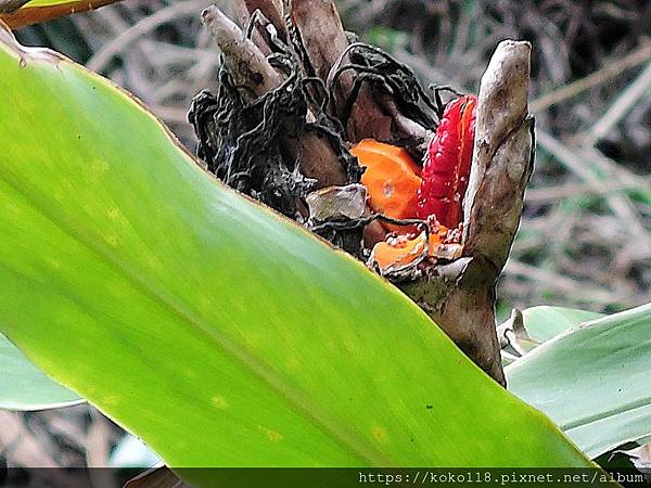
<path fill-rule="evenodd" d="M 528 42 L 502 41 L 482 77 L 473 165 L 464 202 L 465 255 L 501 271 L 520 224 L 533 169 Z"/>

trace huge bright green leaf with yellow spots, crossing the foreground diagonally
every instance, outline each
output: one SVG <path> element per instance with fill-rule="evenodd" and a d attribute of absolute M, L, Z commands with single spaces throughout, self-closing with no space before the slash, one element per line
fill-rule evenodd
<path fill-rule="evenodd" d="M 0 329 L 173 466 L 586 466 L 397 288 L 4 35 Z"/>

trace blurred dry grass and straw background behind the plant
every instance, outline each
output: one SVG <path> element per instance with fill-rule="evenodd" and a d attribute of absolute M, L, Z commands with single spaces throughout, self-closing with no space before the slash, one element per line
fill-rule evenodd
<path fill-rule="evenodd" d="M 193 151 L 186 113 L 196 92 L 215 88 L 219 60 L 199 21 L 210 3 L 127 0 L 16 34 L 23 43 L 51 47 L 133 92 Z M 217 3 L 228 9 L 228 0 Z M 532 42 L 536 170 L 499 283 L 501 318 L 513 307 L 542 304 L 613 312 L 651 301 L 650 1 L 339 3 L 347 29 L 407 62 L 425 85 L 475 91 L 501 39 Z M 86 407 L 59 416 L 7 415 L 29 432 L 54 429 L 54 438 L 72 449 L 67 458 L 50 460 L 62 465 L 97 464 L 102 452 L 105 463 L 123 438 L 110 421 L 93 422 L 99 416 Z M 60 428 L 68 420 L 85 432 L 74 449 Z M 100 435 L 98 428 L 107 431 Z M 108 444 L 78 440 L 97 442 L 98 435 Z"/>

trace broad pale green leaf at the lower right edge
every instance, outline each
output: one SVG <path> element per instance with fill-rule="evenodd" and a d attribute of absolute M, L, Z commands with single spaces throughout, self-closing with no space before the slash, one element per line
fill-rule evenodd
<path fill-rule="evenodd" d="M 552 310 L 549 320 L 570 329 L 506 372 L 511 391 L 596 458 L 651 435 L 651 305 L 579 325 L 584 313 Z M 539 321 L 534 329 L 542 330 L 545 318 L 531 317 Z"/>

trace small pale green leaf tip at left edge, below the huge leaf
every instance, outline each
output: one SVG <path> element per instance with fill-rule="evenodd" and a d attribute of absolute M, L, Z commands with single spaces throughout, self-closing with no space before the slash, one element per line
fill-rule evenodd
<path fill-rule="evenodd" d="M 0 334 L 0 409 L 44 410 L 77 404 L 82 400 L 31 364 Z"/>

